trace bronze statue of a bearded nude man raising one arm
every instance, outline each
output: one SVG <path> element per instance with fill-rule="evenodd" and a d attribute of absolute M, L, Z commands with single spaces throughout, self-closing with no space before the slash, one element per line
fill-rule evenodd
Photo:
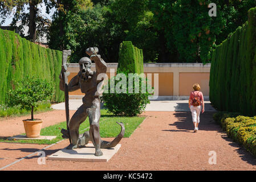
<path fill-rule="evenodd" d="M 72 80 L 67 85 L 67 74 L 63 74 L 67 69 L 62 69 L 60 73 L 60 90 L 65 90 L 65 84 L 68 92 L 72 92 L 78 89 L 81 89 L 82 93 L 85 94 L 83 97 L 83 105 L 76 110 L 75 114 L 72 116 L 70 121 L 67 121 L 67 130 L 62 129 L 63 138 L 70 139 L 70 145 L 67 149 L 78 148 L 79 146 L 84 146 L 88 143 L 89 140 L 95 146 L 95 156 L 103 155 L 100 148 L 109 148 L 115 147 L 117 143 L 124 136 L 124 125 L 119 123 L 121 126 L 120 134 L 112 141 L 106 142 L 100 138 L 100 94 L 103 92 L 101 90 L 104 84 L 104 78 L 100 76 L 98 80 L 97 77 L 100 74 L 105 74 L 107 72 L 107 64 L 100 55 L 97 55 L 98 48 L 91 47 L 86 49 L 88 57 L 82 57 L 79 60 L 79 69 L 78 75 L 72 78 Z M 91 64 L 92 61 L 95 62 L 96 71 L 92 71 Z M 63 75 L 66 75 L 66 78 L 63 78 Z M 65 94 L 65 96 L 68 94 Z M 68 97 L 68 96 L 67 96 Z M 68 100 L 68 98 L 67 98 Z M 67 110 L 66 110 L 67 113 Z M 90 130 L 85 132 L 82 135 L 79 135 L 79 126 L 86 120 L 87 116 L 90 121 Z M 69 119 L 67 119 L 69 120 Z M 80 138 L 79 138 L 80 137 Z"/>

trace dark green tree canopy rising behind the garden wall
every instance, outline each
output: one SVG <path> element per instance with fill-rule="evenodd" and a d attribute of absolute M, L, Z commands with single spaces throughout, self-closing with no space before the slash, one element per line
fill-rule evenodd
<path fill-rule="evenodd" d="M 47 13 L 56 9 L 51 23 L 38 14 L 42 1 Z M 208 14 L 209 3 L 216 3 L 216 17 Z M 13 24 L 18 19 L 29 24 L 30 40 L 47 32 L 50 48 L 72 50 L 72 63 L 92 46 L 107 62 L 116 62 L 123 41 L 143 49 L 145 62 L 208 63 L 216 45 L 245 23 L 255 6 L 255 0 L 1 0 L 0 15 L 15 10 Z"/>

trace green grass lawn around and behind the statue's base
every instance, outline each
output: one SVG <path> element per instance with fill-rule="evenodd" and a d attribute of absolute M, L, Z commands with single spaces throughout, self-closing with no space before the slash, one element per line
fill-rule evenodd
<path fill-rule="evenodd" d="M 124 137 L 129 137 L 133 131 L 143 122 L 145 117 L 115 117 L 107 113 L 107 110 L 101 109 L 101 118 L 100 118 L 100 137 L 116 137 L 120 131 L 121 127 L 116 122 L 123 122 L 125 126 Z M 87 118 L 85 122 L 80 125 L 79 132 L 80 134 L 84 131 L 89 130 L 89 119 Z M 41 130 L 40 135 L 54 135 L 57 136 L 55 139 L 49 140 L 6 140 L 0 139 L 0 142 L 11 142 L 11 143 L 36 143 L 36 144 L 52 144 L 56 143 L 59 140 L 62 140 L 61 129 L 66 129 L 66 121 L 58 123 L 56 125 L 45 127 Z M 25 134 L 23 134 L 25 135 Z"/>

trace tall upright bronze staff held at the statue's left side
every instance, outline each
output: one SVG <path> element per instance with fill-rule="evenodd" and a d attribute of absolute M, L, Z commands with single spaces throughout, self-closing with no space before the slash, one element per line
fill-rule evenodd
<path fill-rule="evenodd" d="M 70 122 L 70 108 L 68 105 L 68 75 L 70 72 L 67 72 L 67 57 L 71 55 L 71 50 L 63 50 L 62 56 L 62 78 L 63 78 L 63 87 L 64 87 L 64 96 L 65 96 L 65 110 L 66 110 L 66 122 L 67 122 L 67 131 L 69 133 L 68 123 Z M 68 134 L 68 139 L 71 142 L 70 135 Z"/>

